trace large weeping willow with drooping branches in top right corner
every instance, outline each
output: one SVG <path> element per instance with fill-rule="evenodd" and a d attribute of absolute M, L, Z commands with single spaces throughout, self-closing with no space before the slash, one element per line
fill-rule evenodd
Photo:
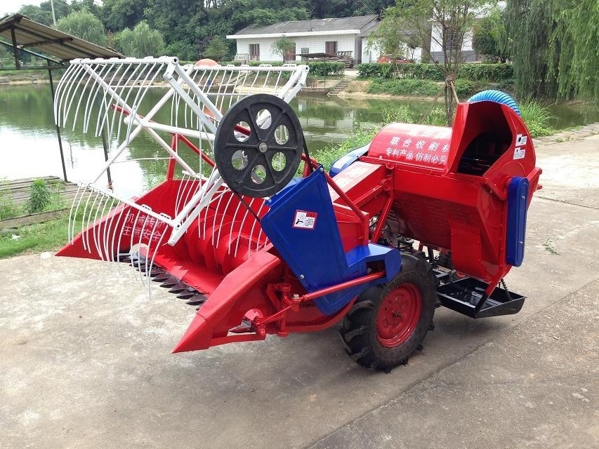
<path fill-rule="evenodd" d="M 599 100 L 596 0 L 508 3 L 518 95 Z"/>

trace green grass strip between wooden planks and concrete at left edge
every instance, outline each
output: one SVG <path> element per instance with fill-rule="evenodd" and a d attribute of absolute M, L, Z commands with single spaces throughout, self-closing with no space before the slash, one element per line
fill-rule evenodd
<path fill-rule="evenodd" d="M 13 234 L 0 234 L 0 259 L 18 255 L 20 253 L 58 250 L 67 243 L 69 226 L 69 213 L 45 223 L 22 226 L 13 234 L 18 239 L 13 239 Z M 81 229 L 81 222 L 75 225 Z"/>

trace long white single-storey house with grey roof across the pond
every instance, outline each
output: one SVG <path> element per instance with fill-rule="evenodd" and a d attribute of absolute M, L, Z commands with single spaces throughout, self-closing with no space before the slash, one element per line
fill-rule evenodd
<path fill-rule="evenodd" d="M 367 49 L 366 39 L 379 23 L 378 15 L 295 20 L 279 22 L 266 27 L 246 27 L 227 39 L 237 41 L 237 54 L 248 55 L 249 60 L 277 61 L 281 56 L 272 53 L 272 44 L 282 36 L 294 41 L 295 48 L 286 60 L 301 60 L 301 54 L 330 53 L 353 58 L 356 64 L 374 62 L 378 55 Z"/>

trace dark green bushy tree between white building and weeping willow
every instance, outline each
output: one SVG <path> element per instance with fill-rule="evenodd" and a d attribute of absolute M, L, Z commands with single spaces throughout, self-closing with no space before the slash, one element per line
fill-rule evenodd
<path fill-rule="evenodd" d="M 509 58 L 508 32 L 506 29 L 506 13 L 500 8 L 493 8 L 487 17 L 474 24 L 472 47 L 481 55 L 499 62 Z"/>

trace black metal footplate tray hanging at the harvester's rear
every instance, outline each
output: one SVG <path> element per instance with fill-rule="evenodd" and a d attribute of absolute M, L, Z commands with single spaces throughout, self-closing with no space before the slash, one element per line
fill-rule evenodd
<path fill-rule="evenodd" d="M 461 278 L 437 288 L 442 305 L 470 318 L 517 314 L 522 309 L 525 296 L 496 287 L 489 297 L 485 290 L 489 284 L 473 278 Z"/>

